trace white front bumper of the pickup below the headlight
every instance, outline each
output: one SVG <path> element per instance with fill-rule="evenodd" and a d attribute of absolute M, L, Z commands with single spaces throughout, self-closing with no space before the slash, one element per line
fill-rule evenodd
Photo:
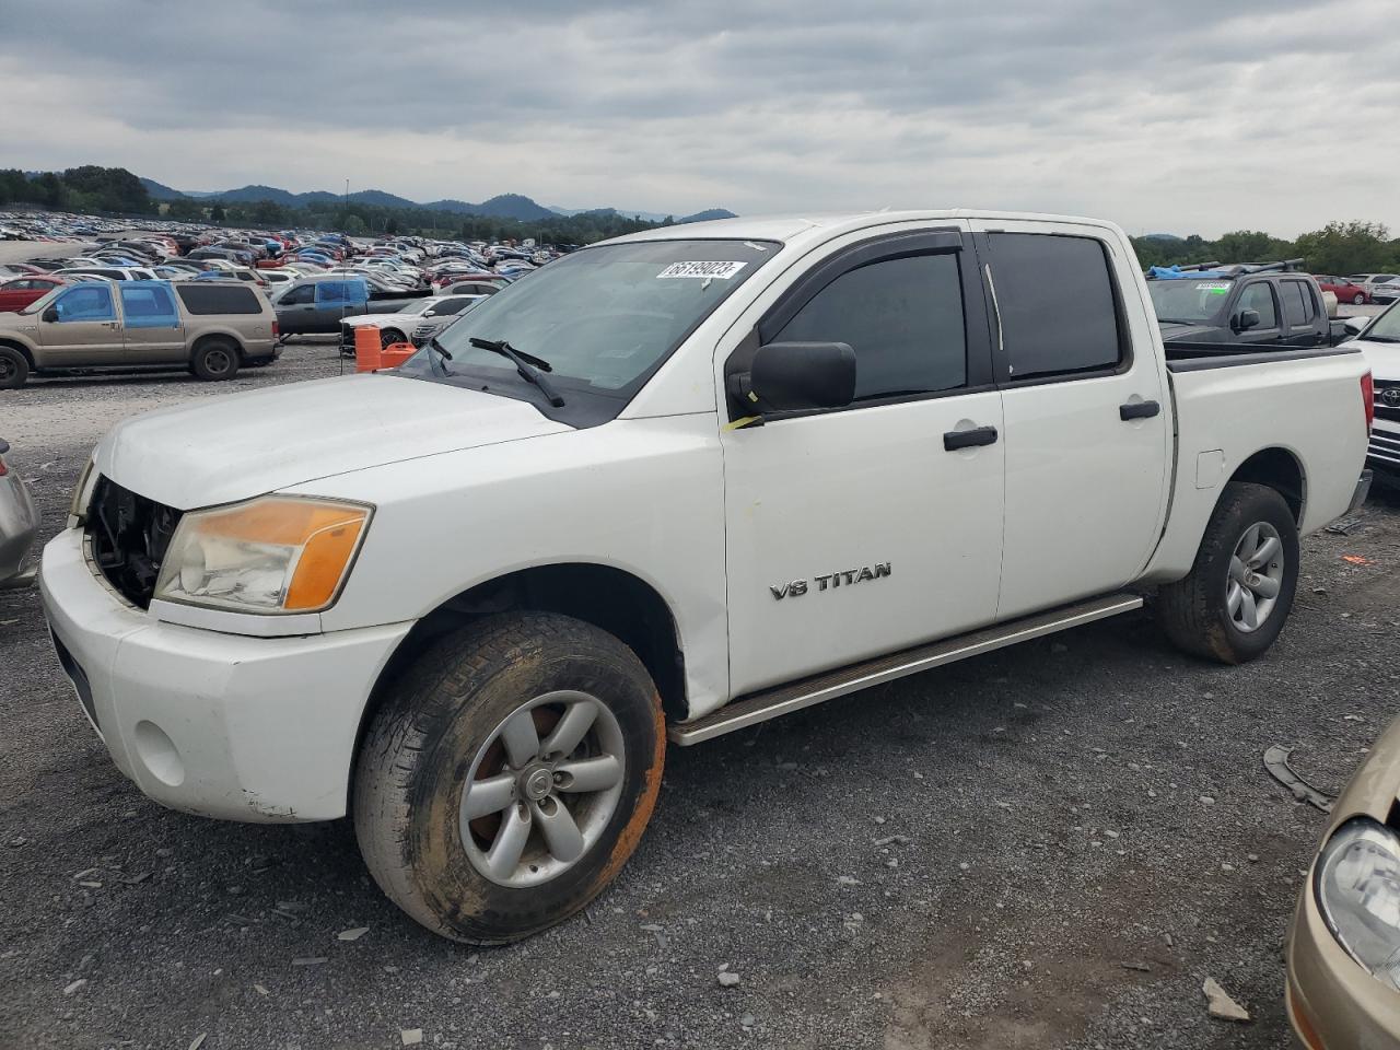
<path fill-rule="evenodd" d="M 91 570 L 80 529 L 43 552 L 43 612 L 116 767 L 172 809 L 344 816 L 360 717 L 410 623 L 280 638 L 162 623 Z"/>

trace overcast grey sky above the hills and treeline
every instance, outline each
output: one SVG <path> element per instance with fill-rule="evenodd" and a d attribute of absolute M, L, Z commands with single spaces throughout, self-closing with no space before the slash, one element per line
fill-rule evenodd
<path fill-rule="evenodd" d="M 1400 231 L 1397 8 L 8 3 L 0 167 L 676 214 L 967 206 L 1134 234 Z"/>

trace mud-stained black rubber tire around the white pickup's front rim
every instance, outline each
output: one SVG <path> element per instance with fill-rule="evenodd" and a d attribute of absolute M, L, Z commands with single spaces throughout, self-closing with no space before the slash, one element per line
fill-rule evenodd
<path fill-rule="evenodd" d="M 473 756 L 521 703 L 578 689 L 622 728 L 617 806 L 567 871 L 529 888 L 498 885 L 462 843 Z M 568 616 L 503 613 L 437 641 L 391 690 L 360 748 L 351 808 L 365 865 L 393 903 L 433 932 L 494 945 L 561 923 L 612 882 L 657 804 L 665 760 L 661 699 L 627 645 Z"/>

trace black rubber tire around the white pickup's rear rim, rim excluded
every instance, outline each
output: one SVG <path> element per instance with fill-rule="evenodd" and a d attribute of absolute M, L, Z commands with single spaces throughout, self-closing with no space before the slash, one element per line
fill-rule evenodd
<path fill-rule="evenodd" d="M 1229 615 L 1226 589 L 1235 547 L 1257 522 L 1267 522 L 1278 532 L 1284 577 L 1267 619 L 1246 633 Z M 1158 620 L 1177 648 L 1222 664 L 1245 664 L 1274 644 L 1288 620 L 1296 587 L 1298 525 L 1288 503 L 1268 486 L 1232 482 L 1215 504 L 1191 571 L 1158 592 Z"/>

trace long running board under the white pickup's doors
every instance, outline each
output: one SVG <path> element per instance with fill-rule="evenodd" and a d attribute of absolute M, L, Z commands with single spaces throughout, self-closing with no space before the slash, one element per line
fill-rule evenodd
<path fill-rule="evenodd" d="M 834 700 L 839 696 L 878 686 L 882 682 L 893 682 L 906 675 L 917 675 L 930 668 L 953 664 L 959 659 L 1015 645 L 1019 641 L 1029 641 L 1141 608 L 1142 598 L 1135 594 L 1113 594 L 1064 605 L 1035 616 L 983 627 L 970 634 L 932 641 L 888 657 L 876 657 L 862 664 L 826 671 L 762 693 L 752 693 L 693 722 L 672 725 L 666 731 L 666 736 L 671 738 L 672 743 L 687 748 L 692 743 L 724 736 L 727 732 L 801 711 L 804 707 Z"/>

